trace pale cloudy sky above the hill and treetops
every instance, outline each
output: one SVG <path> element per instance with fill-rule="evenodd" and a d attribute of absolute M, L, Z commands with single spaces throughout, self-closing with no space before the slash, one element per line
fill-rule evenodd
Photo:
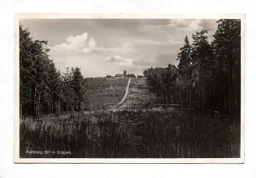
<path fill-rule="evenodd" d="M 47 40 L 50 58 L 65 72 L 78 66 L 84 77 L 127 73 L 177 65 L 185 35 L 209 29 L 217 19 L 20 19 L 31 36 Z"/>

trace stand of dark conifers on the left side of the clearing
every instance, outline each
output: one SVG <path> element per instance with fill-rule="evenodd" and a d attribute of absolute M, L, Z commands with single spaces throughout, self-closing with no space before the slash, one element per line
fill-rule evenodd
<path fill-rule="evenodd" d="M 80 68 L 63 74 L 49 58 L 47 41 L 33 40 L 28 29 L 19 26 L 19 114 L 38 118 L 61 112 L 83 114 L 88 102 L 86 79 Z"/>

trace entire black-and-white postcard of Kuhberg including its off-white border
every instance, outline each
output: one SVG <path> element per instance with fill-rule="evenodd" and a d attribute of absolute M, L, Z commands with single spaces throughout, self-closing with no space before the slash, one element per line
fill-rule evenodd
<path fill-rule="evenodd" d="M 16 14 L 15 162 L 243 163 L 244 15 L 208 16 Z"/>

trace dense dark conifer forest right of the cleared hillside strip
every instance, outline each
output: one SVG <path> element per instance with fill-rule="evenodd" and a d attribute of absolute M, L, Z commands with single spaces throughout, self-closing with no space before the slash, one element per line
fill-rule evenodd
<path fill-rule="evenodd" d="M 220 19 L 208 40 L 208 30 L 185 36 L 178 66 L 146 69 L 152 91 L 159 102 L 179 103 L 181 107 L 219 110 L 230 118 L 240 118 L 241 21 Z"/>

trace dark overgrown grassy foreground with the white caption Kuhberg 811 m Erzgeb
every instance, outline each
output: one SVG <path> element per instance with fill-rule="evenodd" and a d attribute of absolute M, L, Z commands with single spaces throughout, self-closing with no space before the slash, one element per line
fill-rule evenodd
<path fill-rule="evenodd" d="M 239 157 L 240 124 L 195 113 L 119 111 L 20 120 L 20 158 Z"/>

